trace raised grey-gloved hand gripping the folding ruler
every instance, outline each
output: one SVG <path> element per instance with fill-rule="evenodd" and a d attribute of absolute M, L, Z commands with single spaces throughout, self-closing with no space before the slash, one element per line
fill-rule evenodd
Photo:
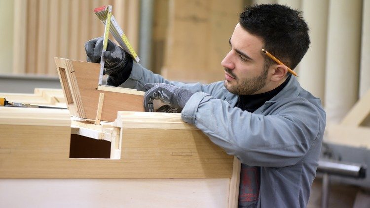
<path fill-rule="evenodd" d="M 85 51 L 87 61 L 93 63 L 100 63 L 100 58 L 103 50 L 103 37 L 98 37 L 85 42 Z M 116 74 L 122 70 L 128 61 L 125 51 L 108 39 L 107 50 L 103 54 L 105 61 L 105 74 Z"/>

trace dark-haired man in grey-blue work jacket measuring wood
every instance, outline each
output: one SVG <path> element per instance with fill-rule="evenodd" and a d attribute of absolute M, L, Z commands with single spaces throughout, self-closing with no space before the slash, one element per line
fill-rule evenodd
<path fill-rule="evenodd" d="M 255 5 L 240 14 L 229 43 L 222 60 L 225 80 L 203 85 L 165 80 L 109 42 L 107 82 L 148 90 L 147 111 L 153 110 L 153 99 L 182 109 L 185 122 L 237 156 L 242 162 L 239 207 L 306 207 L 326 115 L 320 99 L 302 89 L 286 66 L 294 69 L 308 50 L 307 24 L 287 6 Z M 85 48 L 88 61 L 99 62 L 102 38 Z"/>

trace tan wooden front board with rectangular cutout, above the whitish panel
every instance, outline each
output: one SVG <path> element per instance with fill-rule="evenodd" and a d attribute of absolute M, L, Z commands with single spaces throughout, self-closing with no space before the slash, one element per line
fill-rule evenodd
<path fill-rule="evenodd" d="M 0 178 L 232 177 L 233 157 L 200 130 L 123 127 L 119 159 L 71 159 L 67 110 L 0 110 Z"/>

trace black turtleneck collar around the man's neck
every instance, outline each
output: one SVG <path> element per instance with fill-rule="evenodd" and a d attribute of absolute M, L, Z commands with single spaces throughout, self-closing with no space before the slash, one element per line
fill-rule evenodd
<path fill-rule="evenodd" d="M 238 95 L 238 103 L 236 104 L 236 107 L 239 107 L 242 110 L 247 110 L 248 112 L 253 113 L 266 101 L 271 100 L 271 98 L 277 95 L 287 85 L 290 78 L 291 75 L 288 76 L 288 78 L 283 82 L 283 84 L 265 93 L 260 93 L 256 95 Z"/>

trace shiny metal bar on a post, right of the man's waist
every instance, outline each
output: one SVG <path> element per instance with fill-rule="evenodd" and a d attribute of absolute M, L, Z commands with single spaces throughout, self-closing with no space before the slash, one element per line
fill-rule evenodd
<path fill-rule="evenodd" d="M 321 207 L 327 208 L 329 204 L 330 175 L 365 178 L 366 169 L 362 164 L 320 159 L 317 172 L 323 173 Z"/>

